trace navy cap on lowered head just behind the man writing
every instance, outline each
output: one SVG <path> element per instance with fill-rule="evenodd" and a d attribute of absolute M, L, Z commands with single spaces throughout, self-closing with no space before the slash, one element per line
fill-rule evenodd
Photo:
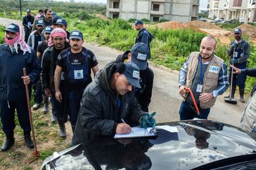
<path fill-rule="evenodd" d="M 148 58 L 150 56 L 150 51 L 148 46 L 142 42 L 134 44 L 130 54 L 132 54 L 132 62 L 134 62 L 140 70 L 146 70 L 148 65 Z"/>

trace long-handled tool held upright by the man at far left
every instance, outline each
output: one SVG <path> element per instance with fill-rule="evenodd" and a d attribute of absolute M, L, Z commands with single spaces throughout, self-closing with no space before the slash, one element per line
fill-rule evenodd
<path fill-rule="evenodd" d="M 27 76 L 26 68 L 23 68 L 23 76 Z M 27 104 L 28 104 L 28 115 L 29 115 L 29 120 L 30 120 L 31 131 L 32 131 L 33 144 L 34 144 L 34 148 L 35 148 L 35 158 L 38 158 L 38 150 L 36 148 L 35 132 L 34 132 L 33 121 L 32 121 L 32 112 L 31 112 L 31 108 L 30 108 L 28 85 L 26 84 L 25 87 L 26 87 Z M 35 159 L 28 161 L 28 163 L 32 163 L 33 161 L 35 161 Z"/>

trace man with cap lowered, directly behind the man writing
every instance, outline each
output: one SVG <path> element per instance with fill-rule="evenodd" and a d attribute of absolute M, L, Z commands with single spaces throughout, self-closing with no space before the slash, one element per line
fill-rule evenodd
<path fill-rule="evenodd" d="M 154 79 L 153 70 L 147 64 L 149 54 L 147 45 L 139 42 L 134 44 L 131 51 L 126 51 L 116 58 L 117 63 L 133 62 L 140 68 L 140 88 L 135 87 L 135 96 L 145 112 L 148 112 L 148 105 L 151 102 Z"/>

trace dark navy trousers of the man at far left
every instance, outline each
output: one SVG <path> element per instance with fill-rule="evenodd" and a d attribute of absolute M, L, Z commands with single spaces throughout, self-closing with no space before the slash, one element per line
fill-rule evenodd
<path fill-rule="evenodd" d="M 17 110 L 17 115 L 24 132 L 30 132 L 30 119 L 28 115 L 28 105 L 27 101 L 22 102 L 7 102 L 0 100 L 0 116 L 2 121 L 2 130 L 5 134 L 11 134 L 15 128 L 15 109 Z"/>

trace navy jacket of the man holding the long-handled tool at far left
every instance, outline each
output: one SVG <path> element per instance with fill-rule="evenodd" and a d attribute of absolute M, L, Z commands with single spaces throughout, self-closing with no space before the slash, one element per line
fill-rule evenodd
<path fill-rule="evenodd" d="M 31 85 L 34 84 L 40 76 L 40 62 L 36 57 L 35 51 L 31 53 L 23 51 L 19 54 L 11 53 L 7 44 L 0 46 L 0 100 L 11 102 L 26 101 L 25 85 L 23 83 L 23 68 L 26 68 L 27 75 L 31 83 L 28 85 L 31 92 Z"/>

